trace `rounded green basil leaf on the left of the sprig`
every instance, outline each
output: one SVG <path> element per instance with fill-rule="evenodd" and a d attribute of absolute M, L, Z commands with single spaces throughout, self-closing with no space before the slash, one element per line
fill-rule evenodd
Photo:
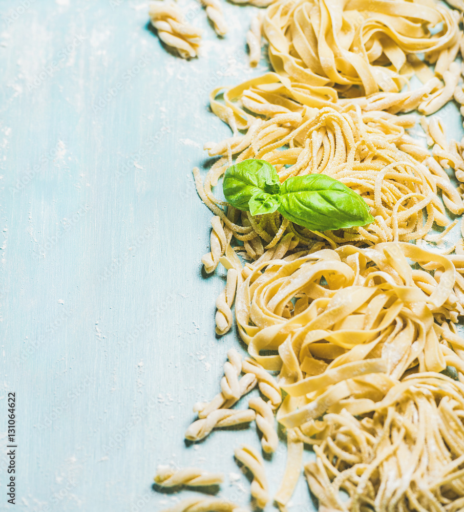
<path fill-rule="evenodd" d="M 249 200 L 255 194 L 277 194 L 279 189 L 276 169 L 265 160 L 248 159 L 230 166 L 222 182 L 226 201 L 245 211 L 249 211 Z"/>

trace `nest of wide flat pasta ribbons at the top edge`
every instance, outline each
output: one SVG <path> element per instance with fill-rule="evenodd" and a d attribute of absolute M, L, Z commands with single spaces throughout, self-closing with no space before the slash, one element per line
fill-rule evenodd
<path fill-rule="evenodd" d="M 425 73 L 409 55 L 426 52 L 434 61 L 459 41 L 458 18 L 451 10 L 437 3 L 418 5 L 280 0 L 266 10 L 263 24 L 272 68 L 319 94 L 333 84 L 345 94 L 361 88 L 360 96 L 379 89 L 397 92 L 415 69 Z M 428 27 L 438 24 L 442 29 L 432 34 Z"/>

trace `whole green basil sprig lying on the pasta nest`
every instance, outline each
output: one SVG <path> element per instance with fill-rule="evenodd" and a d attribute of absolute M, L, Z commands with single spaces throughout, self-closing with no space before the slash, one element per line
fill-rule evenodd
<path fill-rule="evenodd" d="M 222 184 L 227 202 L 251 215 L 279 211 L 311 231 L 364 226 L 373 222 L 364 199 L 324 174 L 288 178 L 280 184 L 275 167 L 249 159 L 230 166 Z"/>

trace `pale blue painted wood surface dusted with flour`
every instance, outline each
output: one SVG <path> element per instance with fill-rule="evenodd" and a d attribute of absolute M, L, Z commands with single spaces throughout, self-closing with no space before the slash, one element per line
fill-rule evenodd
<path fill-rule="evenodd" d="M 255 426 L 183 440 L 239 347 L 235 332 L 214 335 L 224 275 L 201 272 L 211 215 L 191 168 L 230 134 L 209 91 L 267 65 L 247 66 L 255 8 L 223 3 L 219 40 L 195 2 L 180 4 L 204 29 L 190 62 L 163 49 L 146 3 L 0 2 L 0 510 L 13 509 L 9 391 L 15 510 L 160 510 L 193 494 L 155 493 L 160 463 L 224 471 L 220 495 L 249 501 L 233 449 L 259 446 Z M 272 490 L 284 465 L 281 442 L 266 461 Z M 303 479 L 289 509 L 314 509 Z"/>

